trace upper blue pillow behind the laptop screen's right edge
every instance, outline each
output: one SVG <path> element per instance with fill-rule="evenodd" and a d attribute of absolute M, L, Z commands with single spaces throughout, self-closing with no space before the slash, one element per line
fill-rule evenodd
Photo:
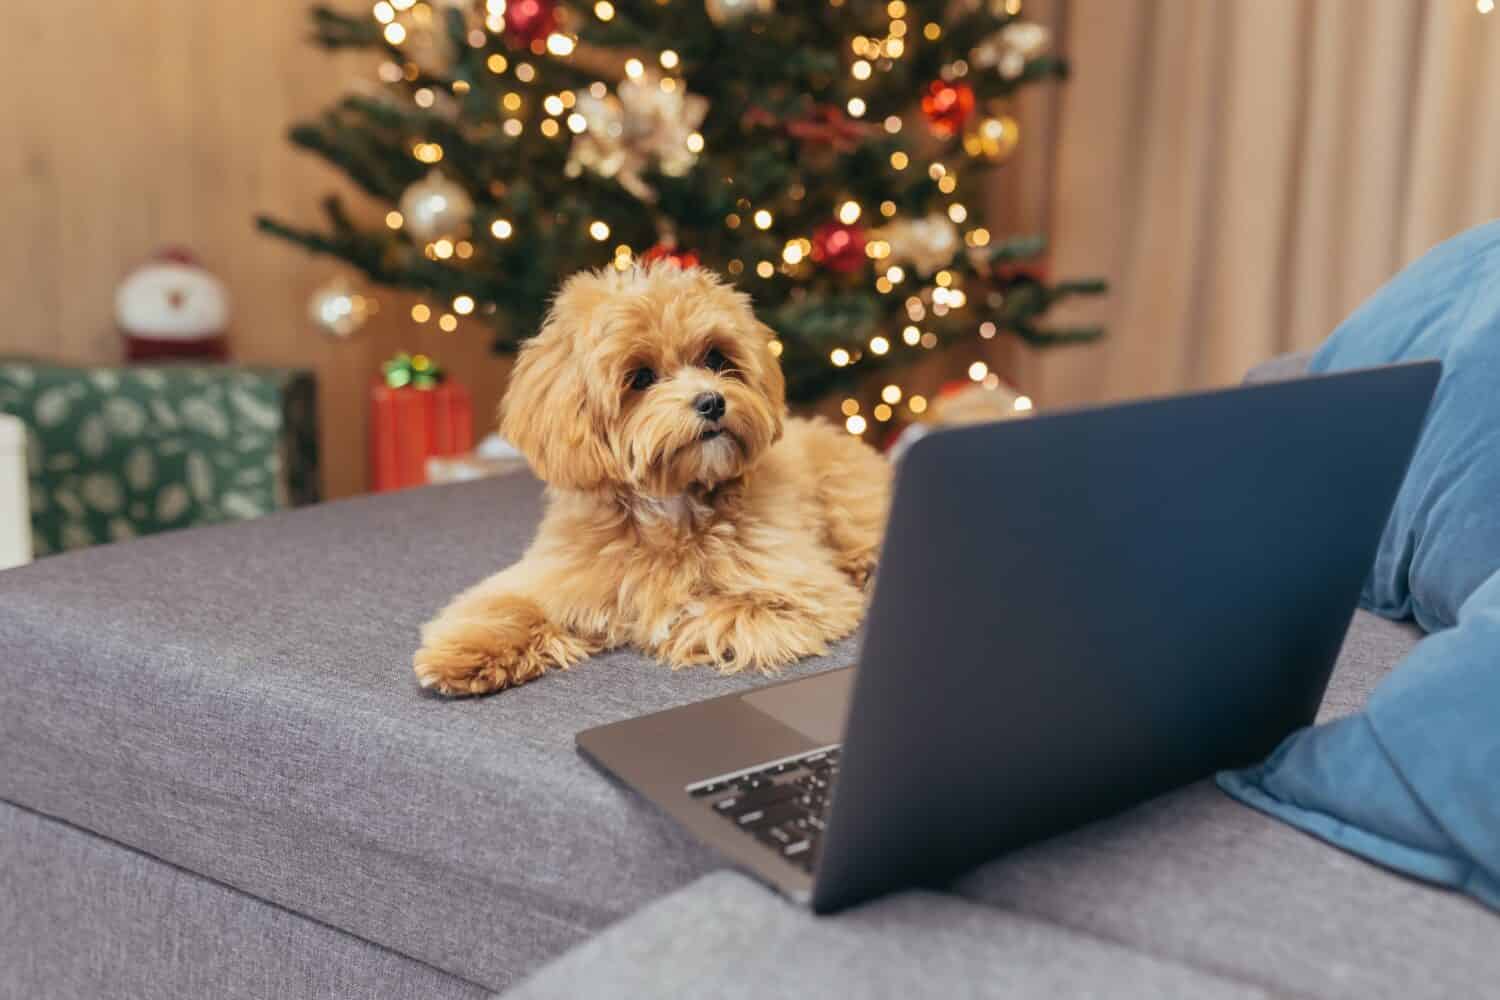
<path fill-rule="evenodd" d="M 1396 274 L 1310 370 L 1416 358 L 1440 358 L 1443 379 L 1360 603 L 1437 631 L 1500 568 L 1500 222 Z"/>

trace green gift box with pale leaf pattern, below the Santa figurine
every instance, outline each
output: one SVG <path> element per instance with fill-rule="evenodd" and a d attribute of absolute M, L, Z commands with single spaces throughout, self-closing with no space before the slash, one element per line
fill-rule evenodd
<path fill-rule="evenodd" d="M 38 555 L 318 499 L 310 372 L 0 360 L 27 429 Z"/>

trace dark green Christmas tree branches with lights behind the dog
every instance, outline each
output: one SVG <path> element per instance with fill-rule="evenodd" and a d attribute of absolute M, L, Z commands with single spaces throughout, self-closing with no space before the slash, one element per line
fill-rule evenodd
<path fill-rule="evenodd" d="M 878 274 L 904 261 L 867 264 L 854 274 L 808 261 L 782 265 L 786 241 L 810 238 L 848 199 L 862 207 L 867 229 L 886 222 L 882 205 L 894 208 L 897 217 L 942 214 L 954 201 L 978 207 L 993 168 L 969 160 L 960 136 L 952 136 L 936 162 L 957 168 L 958 189 L 942 190 L 927 169 L 928 160 L 916 154 L 922 144 L 910 135 L 924 127 L 910 114 L 915 102 L 933 79 L 954 78 L 974 87 L 982 114 L 986 102 L 1064 79 L 1066 61 L 1056 55 L 1030 58 L 1014 79 L 974 66 L 958 73 L 954 66 L 1011 21 L 990 3 L 950 16 L 945 0 L 906 0 L 904 52 L 900 58 L 872 55 L 867 79 L 849 72 L 855 58 L 849 39 L 879 39 L 890 30 L 885 0 L 846 0 L 837 7 L 783 1 L 774 13 L 729 25 L 714 24 L 700 0 L 614 0 L 614 7 L 608 22 L 590 16 L 591 4 L 578 7 L 580 43 L 614 51 L 621 64 L 626 55 L 636 55 L 652 72 L 660 69 L 652 64 L 657 54 L 672 49 L 678 57 L 674 75 L 710 106 L 699 127 L 705 148 L 694 169 L 666 177 L 646 165 L 642 178 L 654 192 L 651 199 L 642 201 L 618 177 L 590 169 L 570 174 L 572 133 L 555 129 L 556 135 L 548 136 L 538 127 L 548 117 L 542 111 L 544 99 L 579 96 L 594 82 L 594 73 L 573 60 L 518 49 L 494 36 L 472 46 L 472 24 L 462 10 L 444 7 L 441 19 L 422 28 L 435 37 L 424 45 L 428 55 L 418 64 L 406 51 L 411 39 L 406 48 L 392 45 L 363 4 L 350 12 L 316 6 L 316 45 L 369 51 L 394 63 L 399 72 L 387 73 L 396 82 L 346 96 L 324 114 L 292 126 L 291 142 L 392 207 L 412 183 L 436 169 L 474 202 L 472 216 L 453 234 L 466 238 L 471 252 L 464 259 L 436 259 L 406 231 L 393 232 L 378 217 L 364 219 L 338 199 L 326 202 L 321 226 L 273 216 L 261 216 L 258 226 L 309 252 L 345 261 L 372 283 L 423 294 L 438 307 L 454 295 L 471 295 L 482 306 L 476 316 L 492 327 L 498 351 L 510 351 L 534 333 L 562 276 L 608 265 L 618 244 L 640 252 L 666 235 L 753 295 L 783 342 L 782 361 L 794 400 L 848 388 L 868 372 L 909 360 L 912 348 L 900 342 L 898 331 L 908 324 L 910 291 L 897 286 L 879 294 L 874 288 Z M 930 37 L 928 24 L 939 25 L 938 37 Z M 435 64 L 434 51 L 447 52 L 441 64 Z M 504 60 L 501 72 L 492 69 L 500 64 L 492 57 Z M 525 78 L 522 66 L 528 67 Z M 612 87 L 618 81 L 604 82 Z M 501 102 L 516 99 L 516 117 L 524 124 L 519 135 L 501 127 L 508 114 L 501 112 Z M 858 121 L 846 111 L 852 99 L 866 105 Z M 904 121 L 894 135 L 884 127 L 892 115 Z M 807 123 L 830 120 L 846 135 L 798 136 Z M 420 162 L 414 156 L 418 144 L 436 144 L 441 159 Z M 904 169 L 898 157 L 892 159 L 898 151 L 910 154 Z M 753 213 L 762 208 L 774 214 L 766 231 L 753 223 Z M 490 223 L 500 219 L 510 226 L 508 240 L 489 235 Z M 597 223 L 608 226 L 603 240 L 590 232 Z M 1089 327 L 1046 325 L 1053 304 L 1101 294 L 1104 285 L 1094 279 L 1048 283 L 1035 268 L 1028 271 L 1026 261 L 1044 250 L 1041 237 L 1028 235 L 957 252 L 948 270 L 969 304 L 945 316 L 930 310 L 920 324 L 922 331 L 938 337 L 939 349 L 964 343 L 980 321 L 1040 346 L 1100 336 Z M 770 277 L 759 273 L 766 261 L 777 265 Z M 912 282 L 904 288 L 914 288 Z M 885 355 L 867 349 L 876 333 L 892 343 Z M 832 366 L 830 354 L 837 348 L 858 360 Z"/>

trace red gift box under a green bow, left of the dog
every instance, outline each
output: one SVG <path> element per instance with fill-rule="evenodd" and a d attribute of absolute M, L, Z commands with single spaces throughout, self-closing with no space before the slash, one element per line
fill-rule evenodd
<path fill-rule="evenodd" d="M 462 454 L 474 447 L 474 406 L 458 382 L 432 388 L 392 388 L 375 379 L 370 390 L 370 484 L 375 492 L 422 486 L 428 459 Z"/>

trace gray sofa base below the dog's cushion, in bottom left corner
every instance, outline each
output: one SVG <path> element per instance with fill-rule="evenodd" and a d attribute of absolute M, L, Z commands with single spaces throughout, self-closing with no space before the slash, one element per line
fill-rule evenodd
<path fill-rule="evenodd" d="M 3 1000 L 464 1000 L 486 993 L 0 802 Z"/>

